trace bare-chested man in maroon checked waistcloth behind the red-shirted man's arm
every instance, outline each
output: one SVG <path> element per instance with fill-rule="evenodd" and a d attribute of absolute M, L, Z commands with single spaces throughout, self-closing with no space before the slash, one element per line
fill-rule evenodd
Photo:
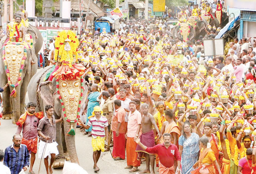
<path fill-rule="evenodd" d="M 154 141 L 155 136 L 154 136 L 152 125 L 155 128 L 158 138 L 160 137 L 160 132 L 158 127 L 156 126 L 154 117 L 150 113 L 148 113 L 147 103 L 142 104 L 141 110 L 142 110 L 143 116 L 141 120 L 142 135 L 140 139 L 141 139 L 141 142 L 143 142 L 143 144 L 146 144 L 147 147 L 153 147 L 155 145 L 155 141 Z M 155 173 L 154 171 L 155 156 L 143 150 L 139 145 L 136 148 L 136 152 L 138 152 L 139 158 L 146 158 L 146 169 L 140 173 L 151 173 L 151 174 Z M 151 164 L 151 172 L 149 169 L 149 163 Z"/>

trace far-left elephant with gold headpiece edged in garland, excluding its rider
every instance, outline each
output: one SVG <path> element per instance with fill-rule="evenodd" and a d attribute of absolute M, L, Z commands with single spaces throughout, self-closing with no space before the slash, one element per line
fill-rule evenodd
<path fill-rule="evenodd" d="M 14 116 L 13 123 L 16 123 L 20 115 L 25 112 L 27 85 L 37 71 L 37 53 L 43 43 L 43 37 L 37 28 L 30 26 L 27 33 L 30 36 L 26 35 L 25 41 L 30 41 L 30 46 L 27 44 L 23 47 L 19 44 L 21 42 L 6 45 L 6 37 L 1 40 L 0 44 L 0 86 L 9 83 L 9 90 L 3 92 L 2 113 L 3 119 L 10 119 Z"/>

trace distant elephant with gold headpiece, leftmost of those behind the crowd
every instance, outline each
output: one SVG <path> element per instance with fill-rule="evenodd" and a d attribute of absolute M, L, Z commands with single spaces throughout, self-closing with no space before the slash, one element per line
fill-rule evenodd
<path fill-rule="evenodd" d="M 175 38 L 183 38 L 184 41 L 192 40 L 195 37 L 195 30 L 188 22 L 183 22 L 181 25 L 176 25 L 172 29 L 172 37 Z"/>

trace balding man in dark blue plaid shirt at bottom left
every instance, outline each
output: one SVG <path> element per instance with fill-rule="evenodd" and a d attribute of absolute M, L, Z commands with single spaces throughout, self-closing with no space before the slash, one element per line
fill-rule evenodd
<path fill-rule="evenodd" d="M 21 135 L 13 136 L 13 144 L 5 149 L 4 165 L 9 167 L 12 174 L 18 174 L 29 166 L 29 152 L 27 146 L 21 144 Z"/>

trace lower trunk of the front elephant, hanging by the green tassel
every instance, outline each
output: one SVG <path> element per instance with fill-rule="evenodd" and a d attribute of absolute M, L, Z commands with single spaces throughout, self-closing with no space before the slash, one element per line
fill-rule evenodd
<path fill-rule="evenodd" d="M 66 140 L 66 145 L 67 145 L 67 150 L 69 153 L 70 161 L 79 164 L 76 149 L 75 149 L 75 135 L 67 135 L 67 132 L 71 127 L 71 124 L 75 129 L 76 128 L 75 123 L 69 123 L 65 119 L 63 119 L 65 140 Z"/>

